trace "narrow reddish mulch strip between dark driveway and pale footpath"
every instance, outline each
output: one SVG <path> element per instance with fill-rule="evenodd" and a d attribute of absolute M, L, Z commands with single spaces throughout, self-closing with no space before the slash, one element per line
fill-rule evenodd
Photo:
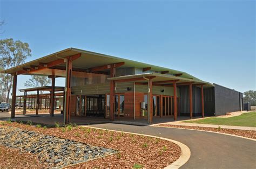
<path fill-rule="evenodd" d="M 252 131 L 252 130 L 206 128 L 206 127 L 200 127 L 200 126 L 185 126 L 185 125 L 172 125 L 172 124 L 159 124 L 158 126 L 166 126 L 166 127 L 170 127 L 170 128 L 182 128 L 182 129 L 214 131 L 214 132 L 221 132 L 221 133 L 227 133 L 227 134 L 230 134 L 230 135 L 237 135 L 237 136 L 256 139 L 256 131 Z"/>

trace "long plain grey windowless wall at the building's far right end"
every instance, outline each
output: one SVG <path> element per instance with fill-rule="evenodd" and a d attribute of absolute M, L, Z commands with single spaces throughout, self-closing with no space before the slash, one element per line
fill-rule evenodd
<path fill-rule="evenodd" d="M 215 115 L 225 115 L 227 112 L 240 111 L 242 95 L 235 90 L 214 84 Z"/>

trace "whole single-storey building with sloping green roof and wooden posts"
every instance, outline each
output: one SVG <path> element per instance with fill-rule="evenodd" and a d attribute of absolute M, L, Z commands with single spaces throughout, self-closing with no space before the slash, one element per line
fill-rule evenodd
<path fill-rule="evenodd" d="M 77 48 L 68 48 L 1 73 L 14 75 L 12 107 L 16 103 L 18 75 L 49 76 L 52 79 L 52 116 L 55 79 L 66 78 L 63 89 L 65 123 L 70 122 L 71 116 L 102 117 L 110 121 L 147 119 L 152 123 L 155 116 L 173 116 L 176 120 L 177 116 L 204 117 L 242 109 L 242 95 L 237 96 L 237 91 L 227 92 L 230 89 L 185 72 Z M 231 97 L 233 100 L 227 99 Z M 230 108 L 220 110 L 227 100 L 225 106 L 228 104 Z M 11 117 L 15 117 L 15 109 Z"/>

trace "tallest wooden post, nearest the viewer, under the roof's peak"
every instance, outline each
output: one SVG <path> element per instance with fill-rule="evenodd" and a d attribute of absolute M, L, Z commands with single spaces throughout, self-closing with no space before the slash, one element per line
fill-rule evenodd
<path fill-rule="evenodd" d="M 71 112 L 70 112 L 70 106 L 71 106 L 71 75 L 72 75 L 72 60 L 71 57 L 68 57 L 66 61 L 66 88 L 65 88 L 65 115 L 64 115 L 64 121 L 65 123 L 70 122 Z"/>

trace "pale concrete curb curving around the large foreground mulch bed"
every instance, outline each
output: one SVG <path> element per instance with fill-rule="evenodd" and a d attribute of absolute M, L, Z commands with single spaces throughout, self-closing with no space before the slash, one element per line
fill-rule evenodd
<path fill-rule="evenodd" d="M 104 130 L 103 128 L 96 128 L 96 127 L 93 127 L 93 126 L 86 126 L 86 125 L 80 125 L 80 126 L 82 126 L 84 128 L 93 128 L 93 129 Z M 128 133 L 128 134 L 133 134 L 133 135 L 160 138 L 160 139 L 172 142 L 174 144 L 177 144 L 181 149 L 181 155 L 176 161 L 174 161 L 174 163 L 170 164 L 169 166 L 166 166 L 165 167 L 166 169 L 179 168 L 179 167 L 183 166 L 185 163 L 187 163 L 188 159 L 190 159 L 190 156 L 191 156 L 191 151 L 188 148 L 188 146 L 186 146 L 185 144 L 180 143 L 176 140 L 172 140 L 172 139 L 169 139 L 169 138 L 163 138 L 163 137 L 157 137 L 157 136 L 151 136 L 151 135 L 144 135 L 144 134 L 139 134 L 139 133 L 133 133 L 133 132 L 125 132 L 125 131 L 117 131 L 117 130 L 109 130 L 109 129 L 107 129 L 107 131 L 124 132 L 124 133 Z"/>

